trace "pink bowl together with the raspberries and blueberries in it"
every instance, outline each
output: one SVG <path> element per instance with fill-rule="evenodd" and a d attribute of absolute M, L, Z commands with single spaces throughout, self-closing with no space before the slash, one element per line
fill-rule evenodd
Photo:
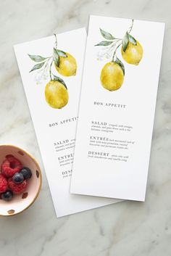
<path fill-rule="evenodd" d="M 0 146 L 0 215 L 15 215 L 30 207 L 41 189 L 36 160 L 17 146 Z"/>

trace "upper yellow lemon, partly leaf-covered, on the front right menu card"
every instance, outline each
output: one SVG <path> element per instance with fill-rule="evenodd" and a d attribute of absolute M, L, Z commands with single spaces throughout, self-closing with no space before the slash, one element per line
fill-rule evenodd
<path fill-rule="evenodd" d="M 143 47 L 138 41 L 136 41 L 136 45 L 129 42 L 125 51 L 121 49 L 121 54 L 125 62 L 138 65 L 143 57 Z"/>

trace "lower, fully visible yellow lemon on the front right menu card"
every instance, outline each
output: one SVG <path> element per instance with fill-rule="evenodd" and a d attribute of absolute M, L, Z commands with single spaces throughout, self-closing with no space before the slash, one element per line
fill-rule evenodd
<path fill-rule="evenodd" d="M 124 73 L 116 62 L 108 62 L 101 70 L 101 85 L 109 90 L 116 91 L 122 86 Z"/>

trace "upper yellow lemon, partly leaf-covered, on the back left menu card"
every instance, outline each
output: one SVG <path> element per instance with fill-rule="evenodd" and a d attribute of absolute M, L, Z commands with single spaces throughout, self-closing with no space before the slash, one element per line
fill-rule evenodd
<path fill-rule="evenodd" d="M 64 76 L 76 75 L 77 71 L 77 62 L 75 58 L 65 52 L 67 57 L 59 56 L 59 67 L 55 65 L 59 74 Z"/>

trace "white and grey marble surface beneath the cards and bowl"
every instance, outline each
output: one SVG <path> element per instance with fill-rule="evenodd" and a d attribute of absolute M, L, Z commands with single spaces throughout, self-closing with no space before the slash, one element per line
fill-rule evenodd
<path fill-rule="evenodd" d="M 0 143 L 24 147 L 42 170 L 12 46 L 87 27 L 90 14 L 166 22 L 146 202 L 121 202 L 57 219 L 43 170 L 36 203 L 21 215 L 0 219 L 1 256 L 171 255 L 170 8 L 170 0 L 1 1 Z M 147 78 L 147 92 L 148 86 Z"/>

